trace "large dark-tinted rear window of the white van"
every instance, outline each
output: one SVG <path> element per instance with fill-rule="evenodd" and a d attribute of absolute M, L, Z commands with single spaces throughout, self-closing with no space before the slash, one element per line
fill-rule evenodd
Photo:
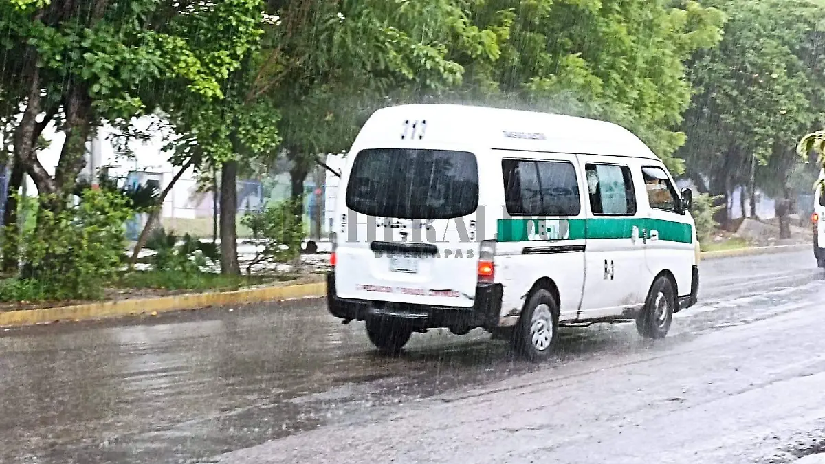
<path fill-rule="evenodd" d="M 433 149 L 365 149 L 352 163 L 347 207 L 363 215 L 450 219 L 479 207 L 474 154 Z"/>

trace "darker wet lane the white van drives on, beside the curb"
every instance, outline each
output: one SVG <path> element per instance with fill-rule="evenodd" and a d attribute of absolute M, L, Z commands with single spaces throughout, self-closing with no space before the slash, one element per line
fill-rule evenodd
<path fill-rule="evenodd" d="M 0 335 L 0 462 L 198 462 L 318 427 L 355 429 L 434 395 L 653 356 L 825 307 L 811 254 L 707 261 L 702 304 L 662 343 L 632 325 L 564 329 L 557 359 L 539 366 L 479 330 L 414 335 L 402 357 L 381 357 L 363 324 L 339 324 L 317 302 L 10 329 Z"/>

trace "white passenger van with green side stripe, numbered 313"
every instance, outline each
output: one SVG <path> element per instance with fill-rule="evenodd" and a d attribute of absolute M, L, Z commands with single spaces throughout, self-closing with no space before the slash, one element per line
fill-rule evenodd
<path fill-rule="evenodd" d="M 376 111 L 343 170 L 328 309 L 378 348 L 483 328 L 531 360 L 559 324 L 636 320 L 662 338 L 695 304 L 699 242 L 662 162 L 618 125 L 530 111 Z"/>

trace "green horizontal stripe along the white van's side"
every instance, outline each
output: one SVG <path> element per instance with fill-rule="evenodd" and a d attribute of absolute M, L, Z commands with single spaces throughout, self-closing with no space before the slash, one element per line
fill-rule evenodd
<path fill-rule="evenodd" d="M 639 228 L 640 234 L 643 229 L 658 230 L 660 240 L 683 244 L 693 242 L 691 225 L 645 218 L 500 219 L 497 241 L 526 242 L 530 240 L 531 232 L 534 240 L 629 239 L 633 235 L 634 225 Z"/>

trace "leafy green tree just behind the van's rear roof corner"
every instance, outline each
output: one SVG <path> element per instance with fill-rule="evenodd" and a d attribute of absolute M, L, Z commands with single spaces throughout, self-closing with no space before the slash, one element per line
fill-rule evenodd
<path fill-rule="evenodd" d="M 281 111 L 291 201 L 301 217 L 304 179 L 318 154 L 347 148 L 370 111 L 404 86 L 461 83 L 450 54 L 497 54 L 492 32 L 469 24 L 465 2 L 270 2 L 276 44 L 253 85 Z M 423 21 L 426 18 L 427 21 Z"/>

